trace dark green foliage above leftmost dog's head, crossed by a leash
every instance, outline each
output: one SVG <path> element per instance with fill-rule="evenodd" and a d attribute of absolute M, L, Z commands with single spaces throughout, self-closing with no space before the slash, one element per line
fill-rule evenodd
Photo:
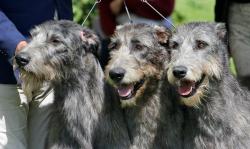
<path fill-rule="evenodd" d="M 83 20 L 86 18 L 90 9 L 95 3 L 95 0 L 73 0 L 73 13 L 74 13 L 74 21 L 82 24 Z M 98 5 L 98 4 L 97 4 Z M 90 27 L 92 20 L 97 15 L 97 5 L 96 8 L 92 11 L 90 16 L 85 22 L 85 26 Z"/>

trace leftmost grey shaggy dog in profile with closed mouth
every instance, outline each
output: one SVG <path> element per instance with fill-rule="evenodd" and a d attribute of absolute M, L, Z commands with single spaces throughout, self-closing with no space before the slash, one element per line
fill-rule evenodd
<path fill-rule="evenodd" d="M 95 57 L 97 36 L 70 21 L 43 23 L 31 35 L 15 59 L 27 93 L 43 81 L 54 88 L 47 148 L 128 148 L 119 101 Z"/>

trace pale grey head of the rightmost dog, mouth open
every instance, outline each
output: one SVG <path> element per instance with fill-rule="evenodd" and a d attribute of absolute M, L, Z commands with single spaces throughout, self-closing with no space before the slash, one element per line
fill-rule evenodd
<path fill-rule="evenodd" d="M 171 37 L 171 62 L 167 76 L 177 88 L 182 102 L 198 106 L 211 80 L 220 80 L 227 71 L 226 29 L 224 24 L 189 23 Z"/>

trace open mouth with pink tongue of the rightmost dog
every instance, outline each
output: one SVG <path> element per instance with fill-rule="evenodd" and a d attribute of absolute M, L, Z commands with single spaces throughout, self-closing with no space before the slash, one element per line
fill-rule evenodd
<path fill-rule="evenodd" d="M 204 79 L 205 75 L 203 74 L 201 79 L 197 82 L 186 79 L 181 80 L 180 85 L 178 86 L 178 93 L 184 98 L 193 96 L 204 81 Z"/>

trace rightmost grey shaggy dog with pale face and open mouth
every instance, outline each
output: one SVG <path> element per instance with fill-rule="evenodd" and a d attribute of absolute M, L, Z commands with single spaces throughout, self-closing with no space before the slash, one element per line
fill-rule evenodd
<path fill-rule="evenodd" d="M 168 80 L 185 105 L 183 148 L 250 148 L 250 94 L 229 72 L 224 24 L 189 23 L 170 39 Z"/>

